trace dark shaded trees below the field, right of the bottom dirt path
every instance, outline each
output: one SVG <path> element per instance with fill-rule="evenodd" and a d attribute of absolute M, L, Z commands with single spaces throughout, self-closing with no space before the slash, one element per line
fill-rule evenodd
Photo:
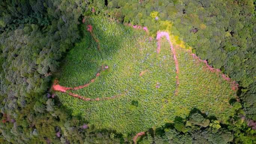
<path fill-rule="evenodd" d="M 241 122 L 243 118 L 238 118 L 234 123 L 229 123 L 228 127 L 214 125 L 200 126 L 198 124 L 191 123 L 192 119 L 210 119 L 202 114 L 200 111 L 191 111 L 192 114 L 187 119 L 179 119 L 173 124 L 165 125 L 162 128 L 157 128 L 152 135 L 149 132 L 138 141 L 139 144 L 228 144 L 228 143 L 241 143 L 241 144 L 253 144 L 255 143 L 255 130 L 248 129 L 246 122 Z M 182 122 L 183 121 L 183 122 Z M 214 123 L 215 120 L 211 120 L 210 123 Z M 180 126 L 175 126 L 179 122 L 179 125 L 186 129 L 186 131 L 180 131 Z M 174 125 L 174 127 L 173 127 Z M 222 125 L 220 123 L 220 125 Z M 161 131 L 159 130 L 161 129 Z M 247 132 L 241 132 L 241 130 Z"/>

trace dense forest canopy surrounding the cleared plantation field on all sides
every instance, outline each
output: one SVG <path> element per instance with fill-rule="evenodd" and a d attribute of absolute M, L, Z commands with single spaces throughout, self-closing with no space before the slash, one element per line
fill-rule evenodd
<path fill-rule="evenodd" d="M 256 143 L 255 0 L 0 0 L 0 143 L 132 143 L 135 134 L 95 129 L 51 93 L 52 75 L 84 37 L 83 19 L 166 30 L 239 84 L 225 124 L 199 110 L 151 128 L 140 144 Z"/>

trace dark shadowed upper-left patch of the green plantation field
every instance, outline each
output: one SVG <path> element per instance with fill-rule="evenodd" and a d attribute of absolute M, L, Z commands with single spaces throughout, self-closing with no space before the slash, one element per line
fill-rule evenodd
<path fill-rule="evenodd" d="M 105 25 L 99 24 L 99 21 L 101 21 L 101 23 L 104 23 Z M 92 25 L 91 33 L 87 30 L 87 25 Z M 101 67 L 101 63 L 106 63 L 107 61 L 110 61 L 110 59 L 112 59 L 114 55 L 117 55 L 119 53 L 119 50 L 124 48 L 124 44 L 127 43 L 127 39 L 130 38 L 131 41 L 136 40 L 133 34 L 134 30 L 131 27 L 127 27 L 122 24 L 115 24 L 115 27 L 114 26 L 110 27 L 110 25 L 114 25 L 114 24 L 112 24 L 111 21 L 109 21 L 107 18 L 104 18 L 104 17 L 88 18 L 85 24 L 81 24 L 79 26 L 79 30 L 83 32 L 80 34 L 82 36 L 82 39 L 80 40 L 80 43 L 76 44 L 77 47 L 75 47 L 77 50 L 80 50 L 80 51 L 76 52 L 76 55 L 74 54 L 72 55 L 69 53 L 71 49 L 69 49 L 65 53 L 65 58 L 60 63 L 61 67 L 58 70 L 58 72 L 53 75 L 53 79 L 54 78 L 60 79 L 63 75 L 65 75 L 65 79 L 67 80 L 75 79 L 74 78 L 76 77 L 75 73 L 77 74 L 77 71 L 81 71 L 80 66 L 84 65 L 80 61 L 76 61 L 78 57 L 79 58 L 84 57 L 82 61 L 83 63 L 84 62 L 86 63 L 87 65 L 86 67 L 89 67 L 89 68 L 83 69 L 82 73 L 88 73 L 89 75 L 91 75 L 89 77 L 92 79 L 92 77 L 94 77 L 95 74 L 98 72 L 97 69 Z M 110 28 L 113 29 L 112 34 L 109 34 L 109 31 L 107 31 Z M 116 33 L 116 31 L 120 31 L 120 33 Z M 144 31 L 141 30 L 140 33 L 142 32 L 144 33 Z M 84 40 L 85 42 L 83 43 Z M 100 49 L 97 48 L 98 46 L 100 46 Z M 73 50 L 72 52 L 74 53 L 74 51 L 76 50 Z M 89 57 L 84 55 L 89 55 Z M 68 59 L 68 58 L 71 58 L 71 59 Z M 97 62 L 95 63 L 95 61 Z M 70 66 L 72 67 L 71 70 L 68 69 L 68 67 Z M 95 69 L 95 73 L 92 72 L 93 69 Z M 112 67 L 109 66 L 108 70 L 110 71 L 111 69 Z M 103 73 L 103 75 L 104 74 L 105 73 Z M 91 80 L 87 78 L 82 77 L 81 78 L 82 80 L 80 80 L 80 82 L 89 82 L 89 80 Z M 52 80 L 52 83 L 53 81 L 54 80 Z M 76 82 L 74 82 L 74 84 L 75 83 Z M 80 83 L 77 85 L 80 85 Z"/>

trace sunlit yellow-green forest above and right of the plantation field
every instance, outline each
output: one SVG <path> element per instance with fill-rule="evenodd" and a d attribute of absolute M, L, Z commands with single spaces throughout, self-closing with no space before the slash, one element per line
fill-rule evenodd
<path fill-rule="evenodd" d="M 110 4 L 111 3 L 111 4 Z M 169 31 L 201 59 L 236 80 L 247 117 L 256 120 L 255 0 L 111 0 L 106 16 Z M 114 13 L 117 12 L 118 14 Z M 131 12 L 132 11 L 132 12 Z M 157 20 L 155 19 L 157 17 Z"/>

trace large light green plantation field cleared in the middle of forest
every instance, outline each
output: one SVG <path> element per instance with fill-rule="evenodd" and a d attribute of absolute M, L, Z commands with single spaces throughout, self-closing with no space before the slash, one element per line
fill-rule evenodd
<path fill-rule="evenodd" d="M 173 122 L 176 116 L 185 118 L 192 108 L 225 122 L 234 111 L 229 99 L 235 98 L 228 81 L 220 73 L 207 70 L 203 62 L 174 45 L 179 61 L 179 85 L 173 52 L 165 38 L 161 51 L 156 52 L 156 40 L 145 31 L 117 24 L 102 17 L 88 18 L 84 37 L 68 52 L 55 79 L 58 84 L 76 87 L 86 98 L 113 99 L 83 101 L 56 91 L 63 105 L 73 110 L 98 129 L 137 133 L 153 126 Z M 92 25 L 95 41 L 86 25 Z M 102 70 L 102 67 L 108 67 Z M 177 86 L 177 87 L 176 87 Z"/>

